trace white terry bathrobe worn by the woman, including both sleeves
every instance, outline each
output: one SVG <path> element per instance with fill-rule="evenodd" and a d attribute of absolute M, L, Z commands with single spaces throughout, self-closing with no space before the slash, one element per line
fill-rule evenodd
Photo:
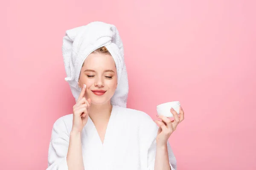
<path fill-rule="evenodd" d="M 67 170 L 67 150 L 73 115 L 59 118 L 53 125 L 47 170 Z M 157 125 L 148 114 L 113 105 L 102 144 L 92 120 L 81 133 L 84 170 L 154 170 Z M 176 159 L 167 142 L 169 163 Z"/>

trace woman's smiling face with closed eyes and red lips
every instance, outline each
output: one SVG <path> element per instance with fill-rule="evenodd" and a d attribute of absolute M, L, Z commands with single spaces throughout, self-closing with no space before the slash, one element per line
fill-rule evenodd
<path fill-rule="evenodd" d="M 111 55 L 92 53 L 85 60 L 79 76 L 79 87 L 86 85 L 86 98 L 95 105 L 110 102 L 117 87 L 116 64 Z"/>

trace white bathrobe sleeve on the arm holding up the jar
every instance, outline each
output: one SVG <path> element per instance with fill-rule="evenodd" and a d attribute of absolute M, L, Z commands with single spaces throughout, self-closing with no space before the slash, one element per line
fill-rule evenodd
<path fill-rule="evenodd" d="M 142 154 L 144 155 L 144 157 L 146 157 L 146 159 L 144 159 L 145 161 L 147 161 L 145 163 L 146 170 L 154 170 L 155 156 L 157 150 L 157 130 L 158 126 L 156 125 L 156 123 L 151 119 L 150 116 L 145 113 L 145 116 L 143 116 L 143 120 L 141 120 L 140 146 L 142 148 Z M 176 158 L 174 156 L 174 153 L 172 152 L 172 148 L 169 142 L 167 142 L 167 148 L 171 170 L 177 170 Z"/>

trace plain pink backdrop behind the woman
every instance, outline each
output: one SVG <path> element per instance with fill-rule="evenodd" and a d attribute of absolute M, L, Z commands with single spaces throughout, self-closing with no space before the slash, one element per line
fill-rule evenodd
<path fill-rule="evenodd" d="M 44 170 L 52 125 L 72 113 L 61 54 L 67 29 L 117 26 L 128 107 L 152 118 L 179 100 L 170 142 L 178 170 L 256 169 L 256 3 L 253 0 L 9 0 L 0 7 L 0 162 Z"/>

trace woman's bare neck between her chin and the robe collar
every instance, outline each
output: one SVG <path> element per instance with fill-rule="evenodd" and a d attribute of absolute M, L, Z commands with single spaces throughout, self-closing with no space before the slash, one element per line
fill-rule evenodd
<path fill-rule="evenodd" d="M 108 122 L 112 111 L 112 105 L 107 102 L 104 105 L 94 105 L 91 103 L 89 116 L 94 123 Z"/>

